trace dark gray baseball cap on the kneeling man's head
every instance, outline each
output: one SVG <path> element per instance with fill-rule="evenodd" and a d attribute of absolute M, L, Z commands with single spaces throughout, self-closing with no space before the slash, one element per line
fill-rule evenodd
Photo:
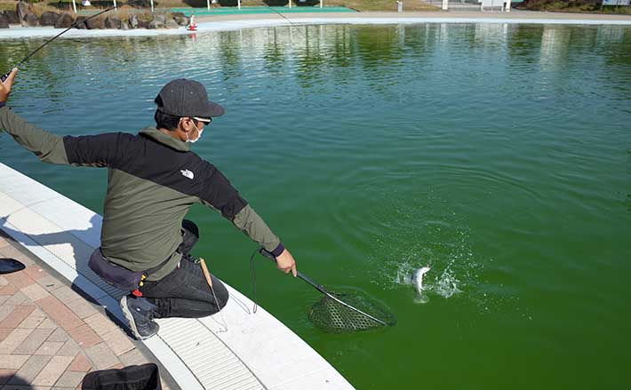
<path fill-rule="evenodd" d="M 210 118 L 224 115 L 225 111 L 217 103 L 208 99 L 204 85 L 194 80 L 180 78 L 164 85 L 154 100 L 164 114 Z"/>

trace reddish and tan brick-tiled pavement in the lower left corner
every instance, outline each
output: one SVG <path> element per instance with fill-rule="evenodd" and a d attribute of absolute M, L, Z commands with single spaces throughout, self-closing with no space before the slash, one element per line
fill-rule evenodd
<path fill-rule="evenodd" d="M 90 371 L 156 362 L 100 306 L 2 232 L 0 258 L 27 266 L 0 275 L 0 390 L 80 389 Z"/>

